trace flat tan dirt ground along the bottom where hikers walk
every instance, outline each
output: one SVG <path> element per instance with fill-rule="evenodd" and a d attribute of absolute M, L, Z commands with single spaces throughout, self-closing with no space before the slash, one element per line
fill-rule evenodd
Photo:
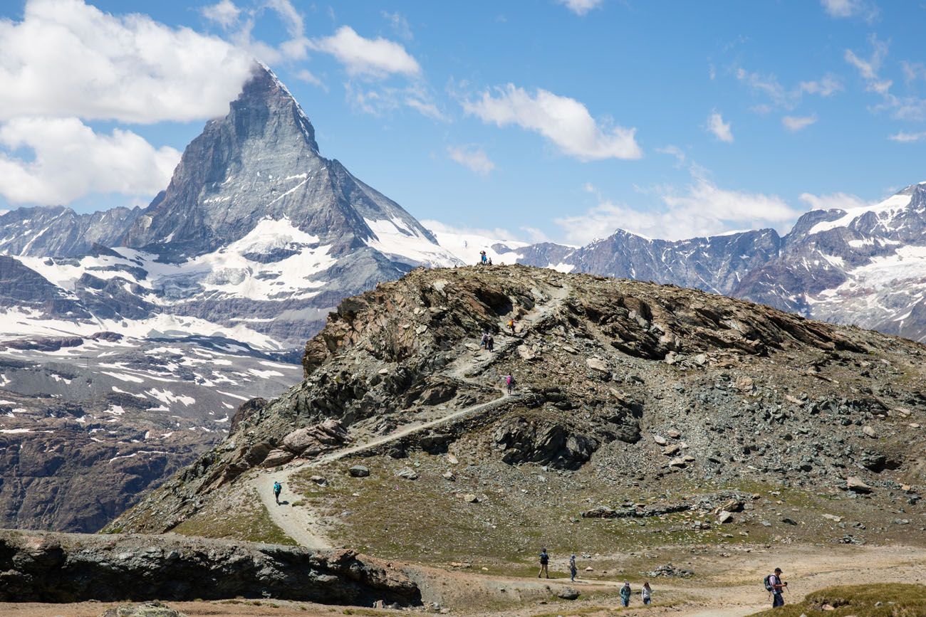
<path fill-rule="evenodd" d="M 711 552 L 693 558 L 695 575 L 689 579 L 650 579 L 654 604 L 640 602 L 637 581 L 632 578 L 634 594 L 629 609 L 619 609 L 617 593 L 622 580 L 583 579 L 569 584 L 563 574 L 553 578 L 506 576 L 473 572 L 470 569 L 442 570 L 409 566 L 408 572 L 418 581 L 425 600 L 417 612 L 437 612 L 482 617 L 557 617 L 562 615 L 605 616 L 674 615 L 677 617 L 743 617 L 769 606 L 762 578 L 771 569 L 781 567 L 784 580 L 790 582 L 785 601 L 793 602 L 825 586 L 864 583 L 926 584 L 926 549 L 887 546 L 757 546 L 750 552 L 740 551 L 727 557 Z M 590 573 L 589 575 L 594 575 Z M 600 575 L 600 574 L 599 574 Z M 577 600 L 557 598 L 565 587 L 580 591 Z M 434 604 L 439 605 L 435 607 Z M 116 606 L 105 602 L 74 604 L 0 603 L 0 614 L 10 617 L 97 617 Z M 321 606 L 307 602 L 275 599 L 230 599 L 216 601 L 169 602 L 171 608 L 187 615 L 237 617 L 240 615 L 389 615 L 399 611 L 360 607 Z M 407 611 L 404 611 L 407 613 Z"/>

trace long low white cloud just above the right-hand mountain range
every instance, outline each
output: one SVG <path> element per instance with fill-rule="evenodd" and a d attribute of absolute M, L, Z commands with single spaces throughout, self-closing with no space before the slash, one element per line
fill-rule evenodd
<path fill-rule="evenodd" d="M 642 210 L 606 201 L 579 216 L 557 218 L 567 241 L 587 244 L 625 229 L 647 238 L 683 240 L 732 229 L 779 227 L 800 212 L 776 195 L 721 189 L 697 166 L 683 191 L 657 189 L 662 207 Z"/>

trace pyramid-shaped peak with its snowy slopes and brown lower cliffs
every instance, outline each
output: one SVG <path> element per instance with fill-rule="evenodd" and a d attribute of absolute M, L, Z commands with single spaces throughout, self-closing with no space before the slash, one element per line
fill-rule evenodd
<path fill-rule="evenodd" d="M 345 296 L 456 265 L 256 66 L 146 208 L 0 216 L 0 524 L 95 531 L 298 381 Z"/>

